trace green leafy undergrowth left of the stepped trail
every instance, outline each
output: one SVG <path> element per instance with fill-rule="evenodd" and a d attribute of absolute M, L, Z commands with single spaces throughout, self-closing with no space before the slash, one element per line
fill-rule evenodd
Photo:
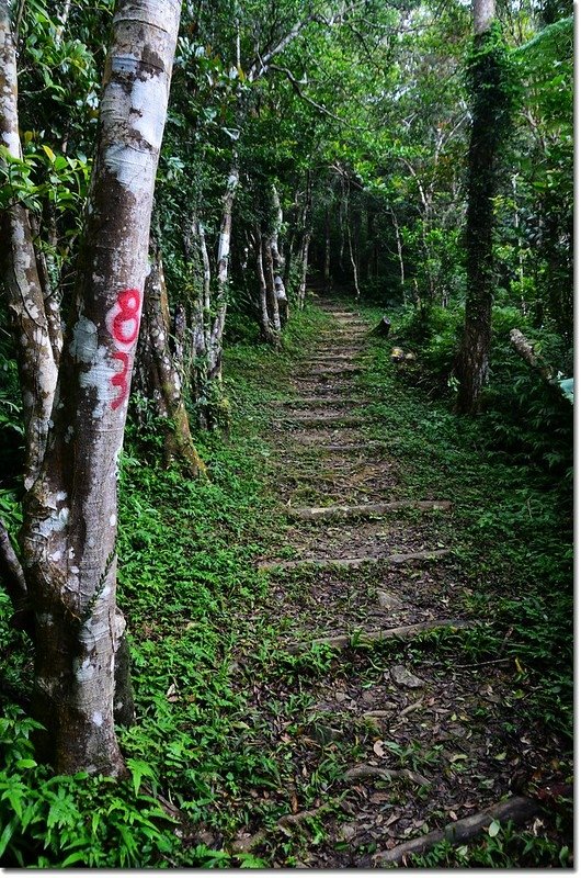
<path fill-rule="evenodd" d="M 2 865 L 252 864 L 252 856 L 232 859 L 219 844 L 208 848 L 187 825 L 205 820 L 229 832 L 239 824 L 242 789 L 280 783 L 275 761 L 253 743 L 247 699 L 231 684 L 231 649 L 241 637 L 231 624 L 232 607 L 251 615 L 266 587 L 252 564 L 276 519 L 264 479 L 272 453 L 260 436 L 264 402 L 277 396 L 298 352 L 326 320 L 307 309 L 276 353 L 265 346 L 230 348 L 231 435 L 197 437 L 208 483 L 159 468 L 156 425 L 145 434 L 128 427 L 117 550 L 138 718 L 119 730 L 129 780 L 53 777 L 36 764 L 34 723 L 25 716 L 30 648 L 9 628 L 9 601 L 0 595 Z M 5 495 L 5 503 L 4 518 L 18 524 L 15 495 Z"/>

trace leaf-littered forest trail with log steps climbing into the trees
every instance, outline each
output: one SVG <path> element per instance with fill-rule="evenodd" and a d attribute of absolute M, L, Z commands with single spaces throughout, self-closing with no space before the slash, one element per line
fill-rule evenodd
<path fill-rule="evenodd" d="M 454 504 L 405 496 L 398 461 L 367 435 L 357 375 L 372 327 L 341 304 L 320 307 L 332 328 L 272 408 L 288 527 L 259 562 L 263 618 L 300 673 L 257 682 L 253 716 L 295 780 L 278 790 L 288 813 L 273 828 L 258 810 L 230 849 L 275 866 L 381 867 L 433 846 L 432 831 L 452 837 L 454 826 L 460 842 L 485 837 L 495 817 L 531 820 L 538 803 L 511 778 L 538 757 L 533 735 L 513 740 L 503 722 L 512 660 L 474 662 L 462 649 L 449 658 L 459 629 L 486 622 L 465 609 Z"/>

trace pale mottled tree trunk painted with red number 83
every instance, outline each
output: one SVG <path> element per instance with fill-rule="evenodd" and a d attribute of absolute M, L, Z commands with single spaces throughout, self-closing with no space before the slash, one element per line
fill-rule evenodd
<path fill-rule="evenodd" d="M 39 753 L 60 773 L 124 772 L 114 730 L 115 653 L 125 627 L 115 603 L 116 470 L 180 5 L 117 4 L 76 304 L 44 458 L 24 500 L 21 549 L 35 624 L 33 710 L 46 729 Z M 1 0 L 3 47 L 10 42 L 7 23 Z M 49 347 L 42 325 L 42 341 L 35 338 L 41 364 Z"/>

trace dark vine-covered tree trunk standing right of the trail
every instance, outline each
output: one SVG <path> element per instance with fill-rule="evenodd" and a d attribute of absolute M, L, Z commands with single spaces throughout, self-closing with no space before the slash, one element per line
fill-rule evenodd
<path fill-rule="evenodd" d="M 467 292 L 464 338 L 457 363 L 458 410 L 474 414 L 488 380 L 494 272 L 493 199 L 499 153 L 510 119 L 505 58 L 492 27 L 492 0 L 474 2 L 472 126 L 468 153 L 466 217 Z"/>

